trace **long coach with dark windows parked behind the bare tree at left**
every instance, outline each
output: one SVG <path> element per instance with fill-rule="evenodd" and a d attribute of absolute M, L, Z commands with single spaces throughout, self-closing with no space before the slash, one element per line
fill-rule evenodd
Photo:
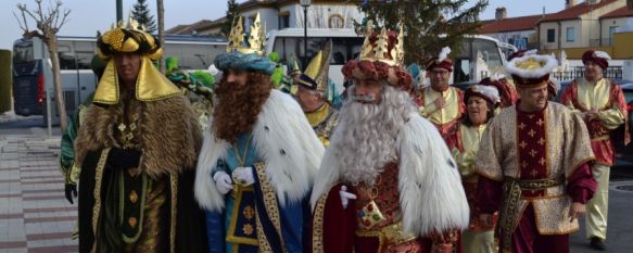
<path fill-rule="evenodd" d="M 167 35 L 164 56 L 176 56 L 182 69 L 207 69 L 215 56 L 225 51 L 227 40 L 216 36 Z M 62 72 L 65 107 L 72 115 L 94 91 L 97 78 L 90 68 L 97 38 L 59 36 L 58 51 Z M 46 94 L 54 94 L 51 62 L 46 45 L 38 38 L 13 43 L 13 96 L 18 115 L 45 115 Z M 47 92 L 48 90 L 48 92 Z M 52 114 L 56 114 L 54 97 Z M 52 118 L 59 122 L 58 116 Z"/>

